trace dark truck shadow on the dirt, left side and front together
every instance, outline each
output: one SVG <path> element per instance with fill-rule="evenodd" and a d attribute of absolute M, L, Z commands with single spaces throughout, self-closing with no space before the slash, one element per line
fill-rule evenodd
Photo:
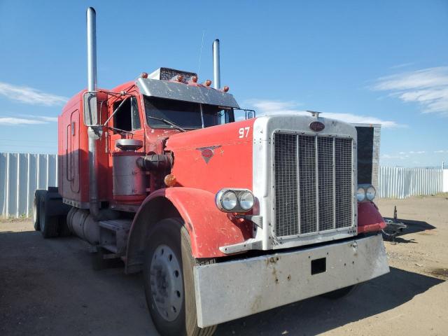
<path fill-rule="evenodd" d="M 443 282 L 391 268 L 341 300 L 314 297 L 218 326 L 216 335 L 316 335 L 388 311 Z M 79 239 L 0 235 L 0 335 L 157 335 L 140 274 L 94 271 Z"/>

